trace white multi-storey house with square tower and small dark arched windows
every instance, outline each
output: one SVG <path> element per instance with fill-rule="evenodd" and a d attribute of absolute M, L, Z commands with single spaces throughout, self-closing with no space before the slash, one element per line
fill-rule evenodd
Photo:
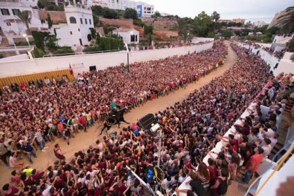
<path fill-rule="evenodd" d="M 92 40 L 90 28 L 94 28 L 91 9 L 68 5 L 64 8 L 66 26 L 55 29 L 59 46 L 89 45 Z"/>

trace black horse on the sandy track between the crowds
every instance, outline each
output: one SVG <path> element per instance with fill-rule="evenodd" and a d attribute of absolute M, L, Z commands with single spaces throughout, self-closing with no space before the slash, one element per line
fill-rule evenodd
<path fill-rule="evenodd" d="M 112 110 L 109 114 L 109 117 L 107 117 L 107 119 L 104 121 L 100 135 L 102 135 L 105 128 L 107 129 L 106 131 L 108 131 L 113 125 L 118 124 L 118 128 L 120 128 L 120 122 L 125 122 L 126 124 L 129 124 L 127 121 L 125 121 L 125 112 L 127 112 L 126 108 L 122 108 L 120 110 Z"/>

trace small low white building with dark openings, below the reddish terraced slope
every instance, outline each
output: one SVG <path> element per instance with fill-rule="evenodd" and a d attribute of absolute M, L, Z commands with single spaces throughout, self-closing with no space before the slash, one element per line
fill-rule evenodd
<path fill-rule="evenodd" d="M 138 32 L 138 30 L 129 28 L 117 28 L 116 30 L 113 30 L 112 33 L 120 35 L 122 37 L 122 40 L 127 44 L 139 43 L 140 32 Z"/>

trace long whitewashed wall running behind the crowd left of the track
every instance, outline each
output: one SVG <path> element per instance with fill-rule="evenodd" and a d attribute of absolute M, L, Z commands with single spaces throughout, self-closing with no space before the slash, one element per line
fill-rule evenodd
<path fill-rule="evenodd" d="M 213 43 L 207 43 L 179 48 L 129 52 L 129 62 L 149 61 L 173 55 L 185 55 L 187 52 L 207 50 L 212 48 L 212 45 Z M 77 74 L 77 72 L 89 71 L 90 66 L 96 66 L 98 70 L 102 70 L 109 66 L 118 66 L 120 63 L 127 63 L 127 51 L 6 61 L 0 62 L 0 77 L 12 77 L 16 75 L 32 74 L 35 72 L 62 70 L 69 68 L 69 64 L 71 64 L 73 71 Z"/>

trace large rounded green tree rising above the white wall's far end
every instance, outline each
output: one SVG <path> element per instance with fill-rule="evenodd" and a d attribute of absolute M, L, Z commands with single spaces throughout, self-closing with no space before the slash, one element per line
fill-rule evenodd
<path fill-rule="evenodd" d="M 204 11 L 198 14 L 194 18 L 194 32 L 199 37 L 207 37 L 208 32 L 210 32 L 210 27 L 212 26 L 212 18 L 208 16 Z"/>

